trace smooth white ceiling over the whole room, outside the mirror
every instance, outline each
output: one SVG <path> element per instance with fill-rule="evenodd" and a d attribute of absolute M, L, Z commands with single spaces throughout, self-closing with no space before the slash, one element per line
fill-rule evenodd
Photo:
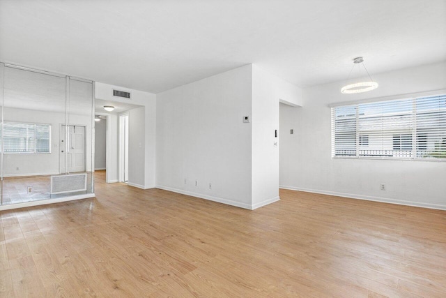
<path fill-rule="evenodd" d="M 446 0 L 0 0 L 0 61 L 157 93 L 245 64 L 307 87 L 446 61 Z"/>

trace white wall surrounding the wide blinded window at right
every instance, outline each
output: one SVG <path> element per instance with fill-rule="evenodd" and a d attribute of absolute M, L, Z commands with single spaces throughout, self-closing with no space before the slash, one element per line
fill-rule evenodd
<path fill-rule="evenodd" d="M 345 95 L 336 82 L 304 89 L 305 107 L 280 106 L 281 187 L 446 209 L 446 162 L 331 158 L 329 104 L 446 89 L 446 63 L 372 75 L 374 91 Z"/>

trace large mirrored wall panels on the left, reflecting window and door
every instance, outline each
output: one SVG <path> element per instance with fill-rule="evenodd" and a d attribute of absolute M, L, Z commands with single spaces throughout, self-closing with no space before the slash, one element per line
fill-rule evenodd
<path fill-rule="evenodd" d="M 93 193 L 93 82 L 0 66 L 1 204 Z"/>

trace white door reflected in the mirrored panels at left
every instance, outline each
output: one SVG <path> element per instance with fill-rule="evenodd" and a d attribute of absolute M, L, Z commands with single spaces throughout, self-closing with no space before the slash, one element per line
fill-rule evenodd
<path fill-rule="evenodd" d="M 85 172 L 85 126 L 62 124 L 61 173 Z"/>

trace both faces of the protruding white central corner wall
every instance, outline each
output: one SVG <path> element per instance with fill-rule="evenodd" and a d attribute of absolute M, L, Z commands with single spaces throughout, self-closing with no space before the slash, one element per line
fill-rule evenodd
<path fill-rule="evenodd" d="M 157 94 L 157 187 L 247 209 L 279 200 L 279 100 L 301 105 L 301 90 L 254 65 Z"/>

